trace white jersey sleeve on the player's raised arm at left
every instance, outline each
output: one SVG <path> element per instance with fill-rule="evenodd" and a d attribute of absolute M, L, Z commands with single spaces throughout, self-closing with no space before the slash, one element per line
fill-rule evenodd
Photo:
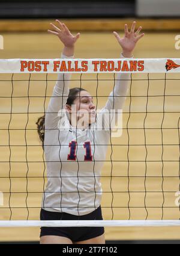
<path fill-rule="evenodd" d="M 74 56 L 61 55 L 62 59 L 73 58 Z M 71 74 L 59 73 L 58 80 L 53 88 L 52 97 L 46 111 L 45 128 L 56 129 L 62 112 L 65 113 L 65 104 L 69 94 Z"/>

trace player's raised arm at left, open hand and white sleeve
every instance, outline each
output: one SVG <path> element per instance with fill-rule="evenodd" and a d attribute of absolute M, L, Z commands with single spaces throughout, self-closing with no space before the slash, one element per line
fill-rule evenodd
<path fill-rule="evenodd" d="M 56 22 L 58 23 L 57 26 L 55 26 L 53 23 L 50 23 L 53 30 L 48 30 L 48 32 L 50 34 L 58 36 L 59 40 L 64 44 L 61 58 L 74 58 L 74 45 L 80 34 L 78 33 L 76 36 L 74 36 L 71 34 L 71 32 L 64 23 L 61 23 L 59 20 L 56 20 Z M 69 94 L 70 79 L 70 73 L 58 74 L 58 81 L 53 88 L 53 94 L 46 111 L 46 129 L 55 129 L 58 125 L 58 112 L 61 109 L 65 109 L 65 103 L 67 102 Z"/>

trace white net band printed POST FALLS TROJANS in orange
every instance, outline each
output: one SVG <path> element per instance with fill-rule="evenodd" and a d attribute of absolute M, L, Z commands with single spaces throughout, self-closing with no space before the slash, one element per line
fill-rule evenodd
<path fill-rule="evenodd" d="M 180 59 L 0 59 L 0 73 L 179 73 Z"/>

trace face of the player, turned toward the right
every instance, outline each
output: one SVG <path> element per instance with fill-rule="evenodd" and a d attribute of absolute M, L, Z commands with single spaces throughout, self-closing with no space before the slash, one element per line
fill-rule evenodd
<path fill-rule="evenodd" d="M 85 112 L 87 123 L 94 123 L 96 116 L 95 105 L 93 97 L 88 91 L 80 91 L 73 104 L 76 105 L 76 112 L 79 112 L 81 114 L 80 116 Z"/>

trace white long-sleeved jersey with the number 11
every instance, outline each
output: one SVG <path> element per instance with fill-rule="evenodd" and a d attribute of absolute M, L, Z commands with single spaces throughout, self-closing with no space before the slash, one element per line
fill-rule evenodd
<path fill-rule="evenodd" d="M 62 55 L 62 58 L 73 58 Z M 47 167 L 47 186 L 43 194 L 42 208 L 49 212 L 65 212 L 86 215 L 101 203 L 101 169 L 106 160 L 109 130 L 74 129 L 65 115 L 65 127 L 59 130 L 58 112 L 65 110 L 69 94 L 70 74 L 59 74 L 53 89 L 45 118 L 44 154 Z M 128 91 L 128 74 L 118 74 L 115 88 L 106 106 L 101 109 L 122 109 Z M 127 81 L 119 81 L 127 79 Z M 113 97 L 121 96 L 121 97 Z M 122 97 L 124 96 L 124 97 Z M 101 114 L 100 113 L 100 114 Z M 93 125 L 97 126 L 99 115 Z M 92 124 L 91 124 L 92 126 Z"/>

